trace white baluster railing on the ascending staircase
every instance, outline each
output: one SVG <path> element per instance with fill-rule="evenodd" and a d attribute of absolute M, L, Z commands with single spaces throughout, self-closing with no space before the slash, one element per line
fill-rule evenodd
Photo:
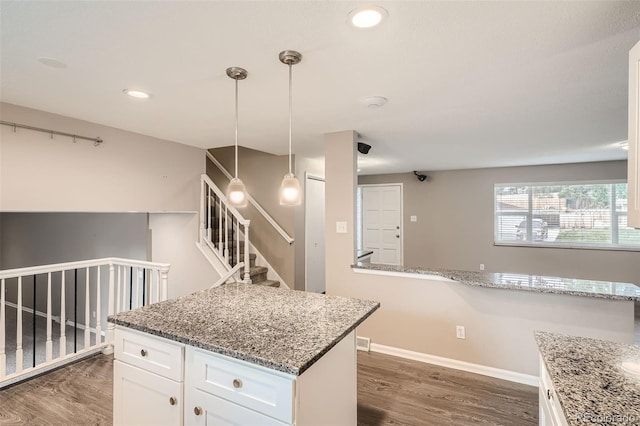
<path fill-rule="evenodd" d="M 229 206 L 220 188 L 203 174 L 200 178 L 200 244 L 206 244 L 227 272 L 244 264 L 242 281 L 250 284 L 249 225 L 235 207 Z M 244 246 L 244 250 L 240 247 Z M 225 280 L 226 281 L 226 280 Z"/>

